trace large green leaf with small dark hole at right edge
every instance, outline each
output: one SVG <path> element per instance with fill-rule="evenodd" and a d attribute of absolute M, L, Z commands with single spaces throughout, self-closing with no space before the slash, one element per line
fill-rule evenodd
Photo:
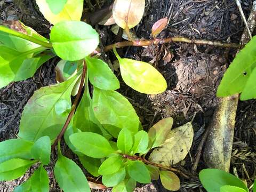
<path fill-rule="evenodd" d="M 254 36 L 244 49 L 235 57 L 224 74 L 217 90 L 217 97 L 227 97 L 241 93 L 256 67 L 256 37 Z"/>

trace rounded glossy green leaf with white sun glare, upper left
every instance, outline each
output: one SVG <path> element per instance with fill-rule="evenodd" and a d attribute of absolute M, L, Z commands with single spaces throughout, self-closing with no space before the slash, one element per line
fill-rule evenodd
<path fill-rule="evenodd" d="M 84 59 L 99 44 L 97 31 L 82 21 L 57 23 L 51 30 L 50 39 L 57 55 L 69 61 Z"/>

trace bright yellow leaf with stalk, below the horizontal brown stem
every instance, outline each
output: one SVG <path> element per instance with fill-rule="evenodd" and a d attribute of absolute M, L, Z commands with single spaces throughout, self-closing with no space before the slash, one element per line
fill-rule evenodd
<path fill-rule="evenodd" d="M 132 89 L 146 94 L 162 93 L 167 83 L 161 73 L 149 63 L 132 59 L 122 59 L 114 49 L 119 61 L 122 78 Z"/>

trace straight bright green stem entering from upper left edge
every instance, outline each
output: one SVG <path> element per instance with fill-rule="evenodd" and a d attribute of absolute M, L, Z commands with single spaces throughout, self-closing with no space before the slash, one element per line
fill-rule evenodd
<path fill-rule="evenodd" d="M 44 47 L 47 47 L 47 48 L 52 48 L 52 44 L 49 43 L 49 42 L 44 42 L 44 41 L 41 41 L 35 37 L 31 37 L 29 35 L 26 35 L 26 34 L 22 34 L 22 33 L 19 33 L 18 31 L 15 31 L 15 30 L 12 30 L 12 29 L 9 29 L 5 26 L 0 26 L 0 31 L 3 31 L 7 34 L 11 34 L 13 36 L 16 36 L 16 37 L 20 37 L 22 39 L 26 39 L 30 42 L 33 42 L 33 43 L 36 43 L 38 45 L 42 45 Z"/>

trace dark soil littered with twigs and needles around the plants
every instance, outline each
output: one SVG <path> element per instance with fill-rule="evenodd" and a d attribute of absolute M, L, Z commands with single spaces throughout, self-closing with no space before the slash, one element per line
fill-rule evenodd
<path fill-rule="evenodd" d="M 86 11 L 97 9 L 85 7 Z M 111 1 L 100 1 L 108 5 Z M 251 0 L 242 1 L 246 15 L 250 13 Z M 0 19 L 20 19 L 27 26 L 33 27 L 47 37 L 50 25 L 39 13 L 34 1 L 0 0 Z M 148 0 L 143 20 L 135 27 L 140 38 L 149 39 L 151 26 L 158 19 L 170 19 L 167 28 L 159 35 L 161 38 L 185 36 L 189 38 L 208 39 L 238 43 L 244 30 L 241 16 L 234 0 Z M 97 26 L 100 30 L 103 46 L 114 43 L 116 36 L 110 27 Z M 196 46 L 193 44 L 174 43 L 157 46 L 128 47 L 122 50 L 122 56 L 151 62 L 165 76 L 168 89 L 162 94 L 140 94 L 121 82 L 119 92 L 132 103 L 140 116 L 143 127 L 147 130 L 162 118 L 173 117 L 175 126 L 186 123 L 196 113 L 194 119 L 195 137 L 189 155 L 180 162 L 179 169 L 193 175 L 189 180 L 182 178 L 179 191 L 203 191 L 197 174 L 205 167 L 203 158 L 199 161 L 197 172 L 191 167 L 194 164 L 198 143 L 209 124 L 217 104 L 215 92 L 228 63 L 234 58 L 236 50 L 212 46 Z M 106 53 L 112 63 L 113 53 Z M 22 108 L 33 92 L 41 86 L 55 83 L 54 66 L 57 59 L 45 63 L 33 78 L 11 83 L 0 89 L 0 141 L 14 138 L 18 132 Z M 118 74 L 118 71 L 117 73 Z M 120 78 L 121 80 L 121 78 Z M 255 179 L 256 171 L 256 102 L 239 102 L 231 159 L 230 172 L 237 173 L 247 183 Z M 52 167 L 49 167 L 52 178 Z M 28 173 L 29 175 L 29 173 Z M 12 191 L 25 178 L 12 182 L 0 183 L 0 191 Z M 156 181 L 151 185 L 137 188 L 137 191 L 166 191 Z M 51 179 L 52 191 L 59 191 L 55 181 Z"/>

